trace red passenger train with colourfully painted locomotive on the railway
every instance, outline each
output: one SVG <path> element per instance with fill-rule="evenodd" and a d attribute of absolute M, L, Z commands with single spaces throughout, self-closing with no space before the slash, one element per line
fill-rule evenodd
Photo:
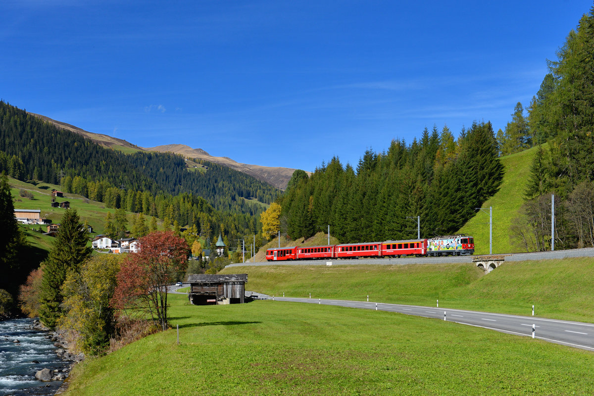
<path fill-rule="evenodd" d="M 475 252 L 472 236 L 451 235 L 429 239 L 386 240 L 332 246 L 294 246 L 268 249 L 268 261 L 400 256 L 460 256 Z"/>

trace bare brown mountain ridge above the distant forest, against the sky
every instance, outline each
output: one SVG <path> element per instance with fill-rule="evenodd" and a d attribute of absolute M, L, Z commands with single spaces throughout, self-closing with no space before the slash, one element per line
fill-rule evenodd
<path fill-rule="evenodd" d="M 260 166 L 251 164 L 242 164 L 237 161 L 230 159 L 229 157 L 214 157 L 208 154 L 201 148 L 191 148 L 185 144 L 166 144 L 157 147 L 143 148 L 138 147 L 123 139 L 111 137 L 109 135 L 96 134 L 94 132 L 85 131 L 84 129 L 78 128 L 77 126 L 70 125 L 65 122 L 56 121 L 49 117 L 29 113 L 30 115 L 36 116 L 45 122 L 52 123 L 60 129 L 66 129 L 67 131 L 75 132 L 89 138 L 91 141 L 100 144 L 104 147 L 116 148 L 125 152 L 129 151 L 158 151 L 159 153 L 174 153 L 184 156 L 187 159 L 201 159 L 212 163 L 220 164 L 223 166 L 230 167 L 238 170 L 239 172 L 247 173 L 254 178 L 262 180 L 263 182 L 270 183 L 271 185 L 285 189 L 289 183 L 290 178 L 293 176 L 295 169 L 285 167 L 271 167 L 271 166 Z M 308 172 L 309 174 L 309 172 Z"/>

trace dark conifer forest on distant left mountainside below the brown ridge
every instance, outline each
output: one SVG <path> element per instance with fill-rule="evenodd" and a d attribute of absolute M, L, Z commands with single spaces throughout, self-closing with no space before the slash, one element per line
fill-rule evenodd
<path fill-rule="evenodd" d="M 34 179 L 59 184 L 64 176 L 78 180 L 77 194 L 94 195 L 102 201 L 105 188 L 178 195 L 194 194 L 217 210 L 254 214 L 257 207 L 243 199 L 257 198 L 270 203 L 278 190 L 235 170 L 208 164 L 208 172 L 188 172 L 181 156 L 138 151 L 124 154 L 94 144 L 90 140 L 0 102 L 0 171 L 15 179 Z M 101 182 L 103 191 L 85 191 L 82 186 Z M 112 194 L 114 195 L 113 191 Z M 121 199 L 108 202 L 119 207 Z"/>

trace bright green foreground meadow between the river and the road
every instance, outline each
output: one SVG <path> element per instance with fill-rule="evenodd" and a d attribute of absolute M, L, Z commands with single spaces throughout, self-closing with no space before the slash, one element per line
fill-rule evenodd
<path fill-rule="evenodd" d="M 172 330 L 77 365 L 67 395 L 594 392 L 594 354 L 529 337 L 363 309 L 170 299 Z"/>

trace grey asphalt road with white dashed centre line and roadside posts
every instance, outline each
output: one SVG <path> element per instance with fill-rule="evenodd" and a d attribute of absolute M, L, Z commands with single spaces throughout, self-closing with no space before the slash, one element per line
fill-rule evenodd
<path fill-rule="evenodd" d="M 424 316 L 425 318 L 440 320 L 444 320 L 445 313 L 445 320 L 450 322 L 482 327 L 508 334 L 523 335 L 525 337 L 532 337 L 532 326 L 535 325 L 535 338 L 539 340 L 594 351 L 594 324 L 591 323 L 560 321 L 557 319 L 538 318 L 537 316 L 464 311 L 462 309 L 437 308 L 437 306 L 428 307 L 291 297 L 269 297 L 269 299 L 286 302 L 336 305 L 349 308 L 377 309 L 378 311 L 399 312 L 406 315 Z"/>

